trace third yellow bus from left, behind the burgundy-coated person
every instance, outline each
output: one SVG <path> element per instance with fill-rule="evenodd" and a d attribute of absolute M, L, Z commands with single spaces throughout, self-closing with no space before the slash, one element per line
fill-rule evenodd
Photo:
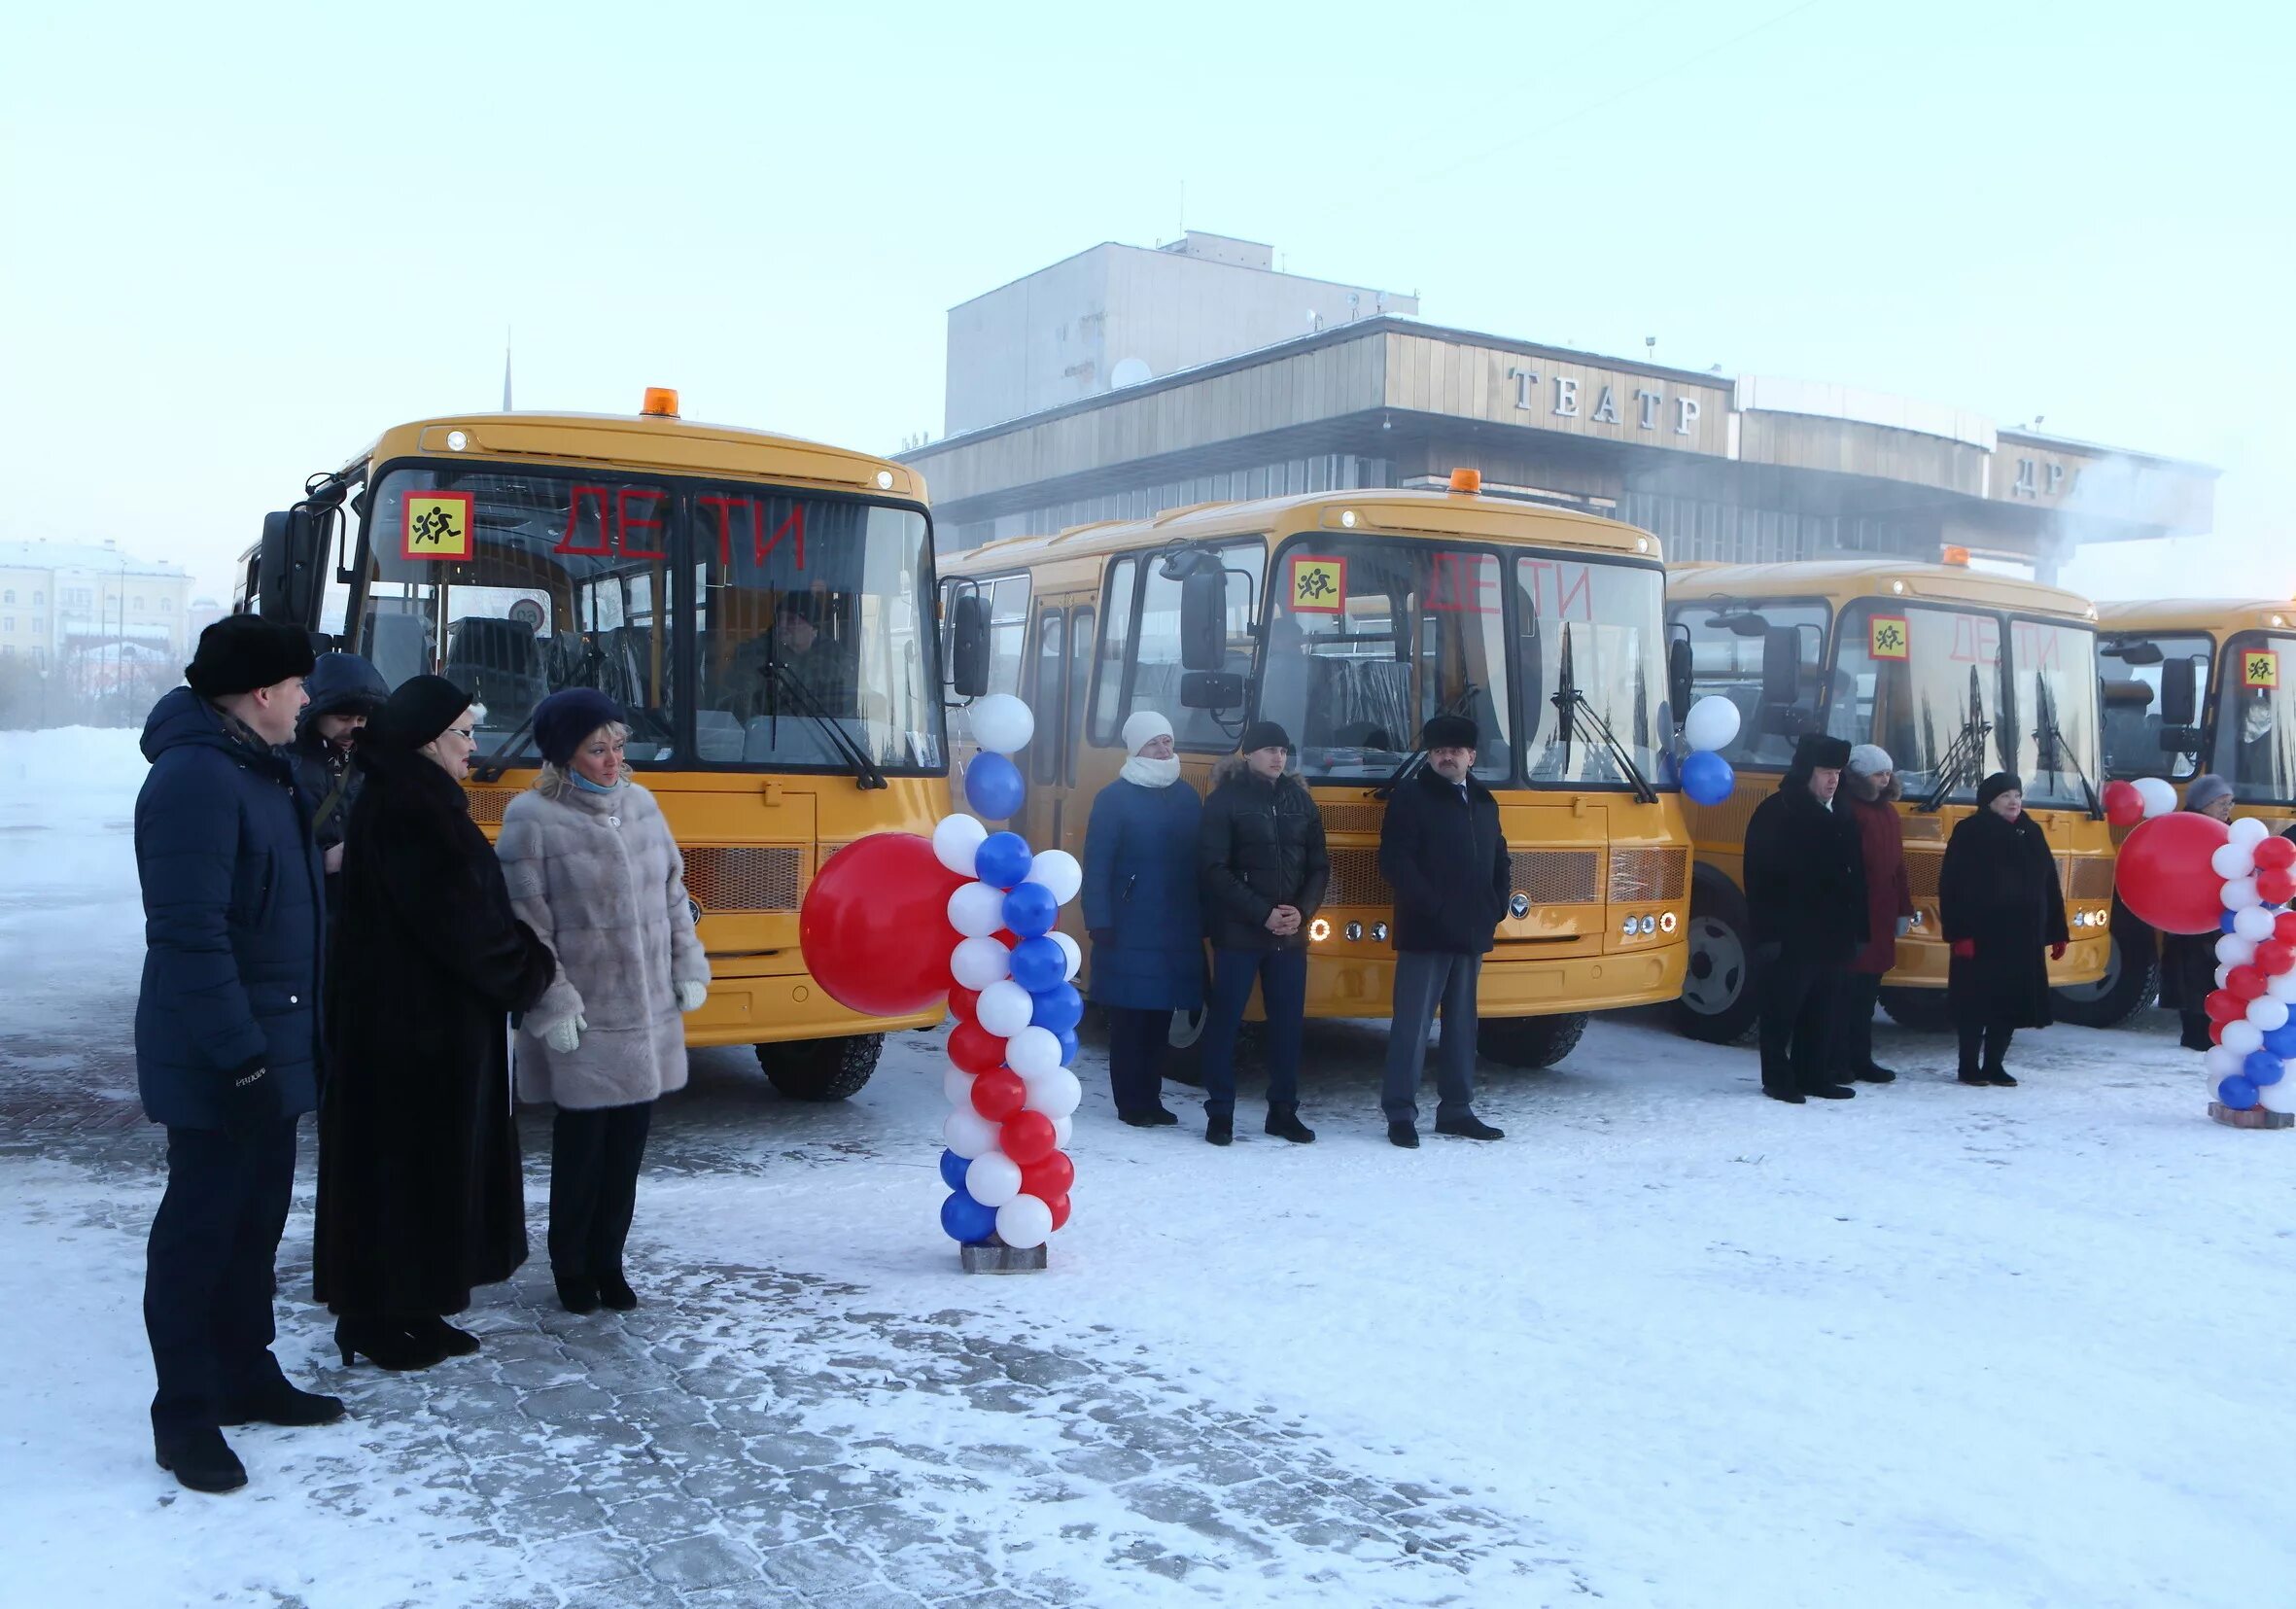
<path fill-rule="evenodd" d="M 1667 620 L 1690 643 L 1694 698 L 1738 705 L 1722 755 L 1738 790 L 1690 806 L 1699 856 L 1690 966 L 1678 1019 L 1729 1042 L 1756 1015 L 1745 909 L 1745 824 L 1805 732 L 1880 744 L 1906 799 L 1913 932 L 1896 946 L 1883 1005 L 1913 1028 L 1945 1026 L 1947 946 L 1938 870 L 1954 824 L 1993 771 L 2025 780 L 2048 833 L 2073 943 L 2050 982 L 2096 980 L 2110 953 L 2112 835 L 2096 714 L 2096 611 L 2057 588 L 1972 572 L 1965 560 L 1816 560 L 1676 565 Z"/>

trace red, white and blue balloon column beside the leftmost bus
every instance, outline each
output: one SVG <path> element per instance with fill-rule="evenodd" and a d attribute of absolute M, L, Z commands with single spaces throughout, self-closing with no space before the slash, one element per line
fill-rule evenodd
<path fill-rule="evenodd" d="M 980 698 L 969 714 L 980 753 L 964 769 L 964 801 L 1006 819 L 1024 792 L 1013 751 L 1029 744 L 1035 721 L 1010 693 Z M 1054 923 L 1084 886 L 1084 868 L 1063 849 L 1031 854 L 1019 833 L 992 833 L 962 813 L 932 829 L 932 854 L 964 879 L 937 925 L 939 943 L 955 946 L 946 950 L 955 1028 L 941 1228 L 967 1246 L 1029 1251 L 1068 1223 L 1077 1177 L 1063 1148 L 1084 1099 L 1068 1070 L 1084 1017 L 1072 982 L 1084 953 Z"/>

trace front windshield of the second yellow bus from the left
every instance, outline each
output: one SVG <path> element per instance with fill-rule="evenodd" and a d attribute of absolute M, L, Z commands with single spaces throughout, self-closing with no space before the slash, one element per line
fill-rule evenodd
<path fill-rule="evenodd" d="M 1488 785 L 1628 785 L 1598 721 L 1660 776 L 1655 565 L 1318 535 L 1286 544 L 1274 576 L 1261 714 L 1309 778 L 1384 780 L 1433 714 L 1476 723 Z"/>

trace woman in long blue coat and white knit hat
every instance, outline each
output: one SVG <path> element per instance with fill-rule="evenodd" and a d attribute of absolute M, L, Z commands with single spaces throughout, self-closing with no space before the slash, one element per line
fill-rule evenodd
<path fill-rule="evenodd" d="M 1084 927 L 1093 1001 L 1109 1015 L 1109 1088 L 1137 1129 L 1178 1122 L 1164 1104 L 1171 1015 L 1203 1005 L 1196 824 L 1203 801 L 1180 780 L 1171 721 L 1125 721 L 1123 774 L 1093 799 L 1084 831 Z"/>

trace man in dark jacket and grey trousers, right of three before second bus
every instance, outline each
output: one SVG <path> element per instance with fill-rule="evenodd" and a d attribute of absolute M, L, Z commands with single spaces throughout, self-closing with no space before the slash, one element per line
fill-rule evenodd
<path fill-rule="evenodd" d="M 1474 780 L 1479 741 L 1467 716 L 1428 721 L 1419 732 L 1426 764 L 1396 787 L 1380 826 L 1380 875 L 1396 891 L 1396 1017 L 1380 1106 L 1387 1138 L 1405 1150 L 1419 1145 L 1419 1079 L 1437 1005 L 1435 1132 L 1506 1138 L 1474 1116 L 1474 989 L 1513 891 L 1499 801 Z"/>

